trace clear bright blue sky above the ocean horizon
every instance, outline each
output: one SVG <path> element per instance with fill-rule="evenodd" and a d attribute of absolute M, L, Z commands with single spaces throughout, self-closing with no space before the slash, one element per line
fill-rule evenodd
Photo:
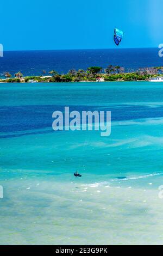
<path fill-rule="evenodd" d="M 163 43 L 162 0 L 1 0 L 4 50 L 120 48 Z"/>

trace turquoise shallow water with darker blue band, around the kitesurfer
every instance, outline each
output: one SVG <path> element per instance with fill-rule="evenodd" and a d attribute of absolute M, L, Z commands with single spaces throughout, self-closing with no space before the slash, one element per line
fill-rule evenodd
<path fill-rule="evenodd" d="M 161 244 L 162 95 L 150 82 L 0 84 L 1 245 Z M 53 131 L 64 106 L 111 111 L 111 135 Z"/>

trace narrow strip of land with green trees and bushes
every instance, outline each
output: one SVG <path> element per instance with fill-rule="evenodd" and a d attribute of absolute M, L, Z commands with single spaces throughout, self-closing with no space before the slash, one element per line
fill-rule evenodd
<path fill-rule="evenodd" d="M 149 81 L 151 77 L 163 75 L 163 66 L 152 68 L 140 68 L 138 70 L 124 69 L 121 66 L 109 65 L 106 69 L 100 66 L 91 66 L 87 70 L 70 70 L 67 74 L 59 74 L 55 70 L 51 70 L 46 75 L 46 71 L 42 71 L 40 76 L 23 76 L 18 71 L 14 77 L 9 72 L 4 72 L 1 78 L 2 83 L 27 83 L 27 82 L 105 82 L 105 81 Z"/>

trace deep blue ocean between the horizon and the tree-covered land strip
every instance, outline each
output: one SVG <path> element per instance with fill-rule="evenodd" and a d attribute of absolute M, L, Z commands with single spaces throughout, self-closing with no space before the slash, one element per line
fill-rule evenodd
<path fill-rule="evenodd" d="M 98 50 L 53 50 L 53 51 L 7 51 L 0 58 L 0 76 L 5 71 L 12 75 L 41 75 L 42 70 L 54 69 L 67 72 L 70 69 L 87 69 L 89 66 L 120 65 L 128 69 L 146 66 L 161 66 L 163 58 L 158 48 L 98 49 Z"/>

